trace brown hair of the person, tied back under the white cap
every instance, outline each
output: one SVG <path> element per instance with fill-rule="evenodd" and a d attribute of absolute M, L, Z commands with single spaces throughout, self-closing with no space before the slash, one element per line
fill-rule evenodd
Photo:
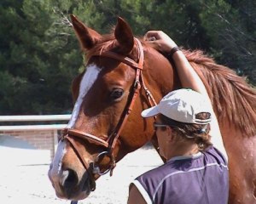
<path fill-rule="evenodd" d="M 209 119 L 210 113 L 198 113 L 196 119 Z M 181 136 L 186 140 L 193 140 L 198 144 L 200 151 L 204 151 L 209 145 L 212 145 L 210 142 L 211 136 L 209 135 L 210 125 L 201 125 L 201 124 L 192 124 L 179 122 L 173 119 L 170 119 L 163 114 L 160 114 L 160 120 L 165 125 L 169 125 L 175 130 L 178 136 Z"/>

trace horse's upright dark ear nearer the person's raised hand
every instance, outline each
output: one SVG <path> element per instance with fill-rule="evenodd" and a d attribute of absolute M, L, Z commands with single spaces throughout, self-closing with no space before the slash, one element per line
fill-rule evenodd
<path fill-rule="evenodd" d="M 122 53 L 128 54 L 134 47 L 134 36 L 129 24 L 121 17 L 117 18 L 115 37 Z"/>

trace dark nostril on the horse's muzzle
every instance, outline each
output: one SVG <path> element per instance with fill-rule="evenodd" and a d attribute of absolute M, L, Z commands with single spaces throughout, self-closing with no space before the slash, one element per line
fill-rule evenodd
<path fill-rule="evenodd" d="M 70 190 L 78 184 L 78 176 L 72 169 L 67 169 L 62 172 L 60 184 L 65 190 Z"/>

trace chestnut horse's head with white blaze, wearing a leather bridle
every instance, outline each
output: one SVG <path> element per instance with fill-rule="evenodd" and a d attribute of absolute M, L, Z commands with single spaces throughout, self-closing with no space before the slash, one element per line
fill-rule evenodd
<path fill-rule="evenodd" d="M 48 175 L 58 197 L 79 200 L 90 194 L 100 175 L 113 170 L 115 161 L 152 139 L 156 141 L 154 119 L 140 116 L 150 103 L 146 90 L 137 88 L 138 72 L 140 83 L 143 80 L 143 86 L 157 102 L 174 89 L 177 77 L 168 60 L 147 42 L 134 38 L 131 27 L 122 18 L 118 18 L 114 32 L 108 35 L 87 28 L 75 16 L 71 19 L 88 61 L 85 71 L 73 80 L 76 103 Z M 139 62 L 140 49 L 143 62 Z M 119 58 L 104 55 L 106 52 Z M 125 63 L 125 57 L 143 64 L 143 70 L 137 71 L 132 63 Z M 133 108 L 129 111 L 131 103 Z"/>

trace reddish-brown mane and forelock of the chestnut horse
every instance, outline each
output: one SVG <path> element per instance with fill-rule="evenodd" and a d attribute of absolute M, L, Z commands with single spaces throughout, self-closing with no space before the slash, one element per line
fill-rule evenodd
<path fill-rule="evenodd" d="M 153 47 L 140 39 L 144 46 Z M 113 31 L 101 37 L 92 49 L 87 51 L 89 59 L 93 54 L 113 50 L 118 47 Z M 199 69 L 212 96 L 211 101 L 217 108 L 218 118 L 222 121 L 227 117 L 242 132 L 248 136 L 256 134 L 256 90 L 251 88 L 243 77 L 203 54 L 200 50 L 182 50 L 192 67 Z"/>

